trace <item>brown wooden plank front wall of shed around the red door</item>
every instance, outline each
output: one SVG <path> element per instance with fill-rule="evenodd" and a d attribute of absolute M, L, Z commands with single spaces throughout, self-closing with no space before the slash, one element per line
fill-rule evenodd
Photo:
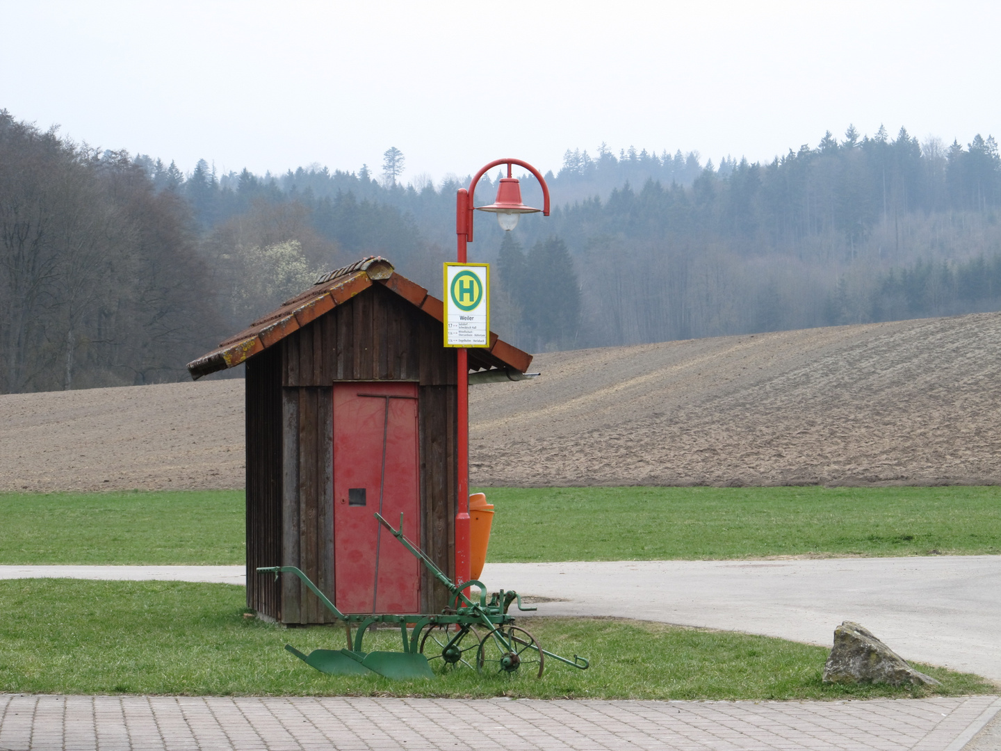
<path fill-rule="evenodd" d="M 420 546 L 453 575 L 455 516 L 455 353 L 441 345 L 441 323 L 375 284 L 283 339 L 281 432 L 282 565 L 298 566 L 333 591 L 331 384 L 419 384 Z M 425 572 L 421 610 L 447 605 L 447 591 Z M 281 621 L 331 619 L 315 596 L 282 577 Z"/>

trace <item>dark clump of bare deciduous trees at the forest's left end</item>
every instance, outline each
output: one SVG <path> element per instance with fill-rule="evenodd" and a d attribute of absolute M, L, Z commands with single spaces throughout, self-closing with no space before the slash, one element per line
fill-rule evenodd
<path fill-rule="evenodd" d="M 0 112 L 0 392 L 181 378 L 220 332 L 190 208 Z"/>

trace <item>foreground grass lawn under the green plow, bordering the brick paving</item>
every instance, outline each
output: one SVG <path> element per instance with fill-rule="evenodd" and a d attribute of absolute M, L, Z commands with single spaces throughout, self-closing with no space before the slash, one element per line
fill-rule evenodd
<path fill-rule="evenodd" d="M 339 649 L 340 627 L 282 629 L 243 618 L 229 585 L 0 581 L 0 691 L 47 694 L 514 696 L 635 699 L 844 699 L 996 693 L 976 676 L 917 665 L 944 686 L 821 683 L 827 650 L 781 639 L 601 619 L 520 619 L 556 663 L 542 680 L 460 671 L 433 680 L 335 677 L 284 651 Z M 371 635 L 369 635 L 371 636 Z M 375 635 L 398 649 L 399 632 Z M 367 641 L 367 638 L 366 638 Z M 369 647 L 370 648 L 370 647 Z"/>

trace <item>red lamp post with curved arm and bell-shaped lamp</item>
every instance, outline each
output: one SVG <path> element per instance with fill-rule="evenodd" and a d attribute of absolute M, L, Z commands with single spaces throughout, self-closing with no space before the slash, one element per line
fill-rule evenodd
<path fill-rule="evenodd" d="M 508 176 L 500 178 L 496 200 L 488 206 L 473 206 L 472 197 L 476 183 L 487 170 L 499 164 L 508 165 Z M 522 203 L 522 190 L 518 178 L 512 176 L 512 167 L 525 167 L 543 186 L 543 208 L 532 208 Z M 459 188 L 455 196 L 455 234 L 458 240 L 456 259 L 465 263 L 465 245 L 472 242 L 472 211 L 489 211 L 497 215 L 497 223 L 507 231 L 518 225 L 519 217 L 525 213 L 542 210 L 543 216 L 550 215 L 550 189 L 539 170 L 521 159 L 495 159 L 483 166 L 469 182 L 468 189 Z M 469 581 L 469 360 L 468 350 L 458 349 L 456 384 L 458 386 L 458 507 L 455 513 L 455 583 Z"/>

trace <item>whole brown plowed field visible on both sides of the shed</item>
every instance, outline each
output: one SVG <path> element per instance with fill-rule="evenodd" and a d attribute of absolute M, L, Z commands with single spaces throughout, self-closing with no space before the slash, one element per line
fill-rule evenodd
<path fill-rule="evenodd" d="M 1001 313 L 540 354 L 470 390 L 485 486 L 1001 482 Z M 0 396 L 0 490 L 240 488 L 243 385 Z"/>

